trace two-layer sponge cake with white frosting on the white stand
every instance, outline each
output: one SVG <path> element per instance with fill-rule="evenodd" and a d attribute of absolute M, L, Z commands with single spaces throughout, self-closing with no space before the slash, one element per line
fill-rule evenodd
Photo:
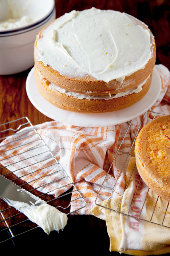
<path fill-rule="evenodd" d="M 36 38 L 36 86 L 64 110 L 124 109 L 149 90 L 155 54 L 151 31 L 133 16 L 95 8 L 72 11 Z"/>

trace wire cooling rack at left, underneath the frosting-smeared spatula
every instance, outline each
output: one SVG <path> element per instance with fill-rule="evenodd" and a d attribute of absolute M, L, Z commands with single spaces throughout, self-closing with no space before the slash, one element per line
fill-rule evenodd
<path fill-rule="evenodd" d="M 0 161 L 0 174 L 4 177 L 8 178 L 8 180 L 11 180 L 12 182 L 19 185 L 20 188 L 24 188 L 25 190 L 36 195 L 37 197 L 40 197 L 42 200 L 46 201 L 50 205 L 52 205 L 56 208 L 59 208 L 60 211 L 66 213 L 67 215 L 72 214 L 73 212 L 76 212 L 76 211 L 84 208 L 87 205 L 84 197 L 80 194 L 78 189 L 76 189 L 75 185 L 71 181 L 68 174 L 65 172 L 65 170 L 63 170 L 60 163 L 56 160 L 56 158 L 51 153 L 50 149 L 48 148 L 48 146 L 46 145 L 44 140 L 41 138 L 41 136 L 36 131 L 36 129 L 33 127 L 33 125 L 31 124 L 31 122 L 29 121 L 29 119 L 27 117 L 19 118 L 17 120 L 11 121 L 11 122 L 1 124 L 0 125 L 0 143 L 3 142 L 3 140 L 5 140 L 5 139 L 9 139 L 11 135 L 13 135 L 14 138 L 15 138 L 15 136 L 17 136 L 17 138 L 19 138 L 19 139 L 15 138 L 14 142 L 16 142 L 16 141 L 19 142 L 20 140 L 23 139 L 23 137 L 20 138 L 20 134 L 23 133 L 23 131 L 21 131 L 21 129 L 25 128 L 25 127 L 27 127 L 27 129 L 29 129 L 29 131 L 32 131 L 31 135 L 24 137 L 24 139 L 26 139 L 24 142 L 25 144 L 22 144 L 22 146 L 17 146 L 17 147 L 11 146 L 9 150 L 13 150 L 13 152 L 15 150 L 17 150 L 17 152 L 18 152 L 20 150 L 20 147 L 29 146 L 30 149 L 28 149 L 27 151 L 24 151 L 24 153 L 25 152 L 28 153 L 28 151 L 30 153 L 30 151 L 33 152 L 37 148 L 38 148 L 38 150 L 40 150 L 40 148 L 43 148 L 42 153 L 41 153 L 41 151 L 39 151 L 40 153 L 37 154 L 37 150 L 36 150 L 35 151 L 36 155 L 35 154 L 32 155 L 32 152 L 31 152 L 31 157 L 29 157 L 29 161 L 32 158 L 32 159 L 34 159 L 35 162 L 31 165 L 24 166 L 24 168 L 31 168 L 32 165 L 33 166 L 35 166 L 36 164 L 39 165 L 43 161 L 50 160 L 49 162 L 50 163 L 53 162 L 53 163 L 52 164 L 49 163 L 47 167 L 54 168 L 57 166 L 57 170 L 56 170 L 56 172 L 47 174 L 46 176 L 53 175 L 54 173 L 57 173 L 57 172 L 60 172 L 60 173 L 62 172 L 62 178 L 59 178 L 58 180 L 55 180 L 52 182 L 49 182 L 49 183 L 43 185 L 43 187 L 48 184 L 58 182 L 59 180 L 64 180 L 65 181 L 64 186 L 60 186 L 60 187 L 58 187 L 58 189 L 62 189 L 63 187 L 68 186 L 68 191 L 63 193 L 62 195 L 60 195 L 57 198 L 55 198 L 52 195 L 47 195 L 47 193 L 49 193 L 49 192 L 41 193 L 41 192 L 37 191 L 35 188 L 33 188 L 31 185 L 29 185 L 29 183 L 31 181 L 24 182 L 23 180 L 20 179 L 25 175 L 23 175 L 21 177 L 17 177 L 15 175 L 15 172 L 18 169 L 11 172 L 7 169 L 7 167 L 9 167 L 10 164 L 8 166 L 4 167 L 1 164 L 2 163 L 1 161 L 3 161 L 3 160 Z M 31 138 L 33 138 L 33 139 L 31 139 Z M 29 139 L 29 142 L 27 141 L 27 139 Z M 35 142 L 37 142 L 36 146 L 35 146 Z M 32 144 L 32 143 L 34 143 L 34 144 Z M 5 146 L 7 146 L 7 144 L 9 144 L 9 143 L 6 143 Z M 13 143 L 13 144 L 15 145 L 15 143 Z M 32 145 L 34 145 L 34 146 L 32 147 Z M 5 150 L 2 150 L 3 146 L 4 145 L 0 145 L 0 154 L 4 153 L 4 151 L 5 151 Z M 6 151 L 6 153 L 8 153 L 7 151 Z M 14 153 L 13 153 L 12 157 L 8 157 L 8 161 L 10 160 L 10 158 L 13 158 L 15 156 L 19 157 L 19 155 L 21 155 L 21 154 L 22 154 L 22 152 L 17 153 L 16 155 L 14 155 Z M 41 158 L 41 161 L 36 160 L 37 156 Z M 20 160 L 19 162 L 22 162 L 22 161 L 23 160 Z M 19 163 L 19 162 L 17 162 L 17 163 Z M 13 165 L 15 165 L 17 163 L 14 163 Z M 38 172 L 42 169 L 36 170 L 35 174 L 36 174 L 36 172 Z M 44 177 L 46 177 L 46 176 L 44 176 Z M 35 179 L 35 181 L 38 179 L 39 178 Z M 52 192 L 52 190 L 50 192 Z M 79 196 L 76 197 L 76 199 L 71 200 L 72 193 L 78 193 Z M 71 207 L 72 203 L 74 203 L 75 210 L 70 212 L 70 207 Z M 75 206 L 77 208 L 75 208 Z M 9 207 L 7 203 L 5 203 L 2 199 L 0 199 L 0 243 L 5 242 L 7 240 L 11 240 L 12 238 L 15 238 L 16 236 L 19 236 L 19 235 L 25 233 L 22 231 L 21 232 L 18 231 L 18 230 L 20 230 L 20 227 L 23 227 L 23 226 L 28 227 L 29 230 L 36 229 L 38 227 L 35 223 L 32 223 L 31 221 L 29 221 L 29 219 L 24 214 L 17 211 L 13 207 Z M 16 229 L 16 227 L 17 227 L 17 229 Z M 28 232 L 29 230 L 27 230 L 26 232 Z M 12 242 L 13 242 L 13 239 L 12 239 Z"/>

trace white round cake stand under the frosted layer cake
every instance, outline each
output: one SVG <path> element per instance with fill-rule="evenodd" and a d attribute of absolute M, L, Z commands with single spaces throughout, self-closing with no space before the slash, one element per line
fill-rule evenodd
<path fill-rule="evenodd" d="M 161 78 L 157 69 L 154 68 L 149 91 L 141 101 L 135 103 L 133 106 L 109 113 L 74 113 L 53 106 L 41 96 L 35 84 L 33 69 L 34 68 L 29 72 L 26 81 L 27 95 L 33 106 L 41 113 L 54 120 L 76 126 L 103 127 L 130 121 L 149 110 L 157 101 L 161 92 Z"/>

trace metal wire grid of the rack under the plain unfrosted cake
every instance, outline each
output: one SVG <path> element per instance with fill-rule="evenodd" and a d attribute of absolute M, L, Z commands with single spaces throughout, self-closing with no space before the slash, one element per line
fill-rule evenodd
<path fill-rule="evenodd" d="M 150 113 L 152 113 L 152 115 L 153 115 L 153 120 L 154 120 L 155 117 L 158 116 L 158 115 L 159 115 L 159 116 L 164 116 L 164 114 L 158 113 L 158 112 L 150 111 Z M 143 119 L 142 119 L 142 121 L 141 121 L 141 124 L 139 125 L 139 128 L 138 128 L 137 134 L 136 134 L 136 136 L 135 136 L 135 139 L 137 138 L 137 135 L 138 135 L 138 133 L 139 133 L 139 131 L 140 131 L 141 125 L 142 125 L 142 123 L 143 123 L 143 120 L 144 120 L 146 114 L 147 114 L 147 112 L 146 112 L 146 113 L 144 114 L 144 116 L 143 116 Z M 133 120 L 132 120 L 132 121 L 133 121 Z M 135 193 L 133 194 L 133 199 L 132 199 L 132 201 L 131 201 L 131 203 L 130 203 L 130 206 L 127 206 L 127 209 L 128 209 L 128 210 L 127 210 L 127 213 L 125 213 L 125 212 L 123 212 L 123 211 L 120 211 L 120 204 L 121 204 L 121 202 L 122 202 L 124 193 L 123 193 L 123 195 L 122 195 L 122 197 L 121 197 L 119 203 L 118 203 L 117 205 L 114 205 L 114 208 L 108 207 L 109 200 L 112 198 L 112 195 L 113 195 L 113 193 L 114 193 L 114 191 L 115 191 L 115 188 L 116 188 L 116 182 L 118 181 L 118 179 L 119 179 L 119 177 L 120 177 L 120 175 L 121 175 L 121 173 L 122 173 L 122 171 L 123 171 L 124 166 L 127 165 L 127 163 L 129 162 L 129 159 L 130 159 L 129 157 L 130 157 L 130 156 L 131 156 L 131 157 L 135 157 L 134 154 L 131 154 L 131 150 L 132 150 L 132 148 L 133 148 L 133 146 L 134 146 L 135 139 L 134 139 L 134 141 L 133 141 L 133 143 L 132 143 L 132 145 L 131 145 L 131 148 L 130 148 L 130 151 L 129 151 L 129 152 L 124 152 L 124 151 L 120 150 L 121 145 L 122 145 L 122 143 L 123 143 L 123 141 L 124 141 L 124 138 L 125 138 L 127 132 L 128 132 L 129 129 L 130 129 L 130 125 L 131 125 L 132 121 L 130 122 L 129 127 L 128 127 L 127 130 L 126 130 L 126 133 L 125 133 L 125 135 L 124 135 L 124 137 L 123 137 L 123 139 L 122 139 L 122 142 L 120 143 L 120 146 L 119 146 L 119 148 L 118 148 L 118 150 L 117 150 L 117 152 L 116 152 L 116 154 L 115 154 L 115 157 L 114 157 L 114 159 L 113 159 L 113 161 L 112 161 L 112 163 L 111 163 L 111 165 L 110 165 L 110 168 L 109 168 L 109 170 L 108 170 L 108 172 L 107 172 L 107 175 L 106 175 L 106 177 L 105 177 L 105 179 L 104 179 L 104 181 L 103 181 L 103 184 L 102 184 L 102 186 L 101 186 L 101 188 L 100 188 L 100 190 L 99 190 L 99 193 L 98 193 L 98 195 L 97 195 L 97 197 L 96 197 L 95 204 L 98 205 L 98 206 L 100 206 L 100 207 L 103 207 L 103 208 L 106 208 L 106 209 L 108 209 L 108 210 L 117 212 L 117 213 L 119 213 L 119 214 L 123 214 L 123 215 L 125 215 L 125 216 L 129 216 L 129 217 L 134 218 L 134 219 L 137 219 L 137 220 L 142 220 L 142 221 L 150 222 L 150 223 L 153 223 L 153 224 L 157 224 L 157 225 L 159 225 L 159 226 L 163 226 L 163 227 L 168 227 L 168 228 L 170 228 L 170 226 L 163 225 L 163 224 L 164 224 L 164 221 L 165 221 L 166 213 L 169 213 L 169 212 L 167 212 L 168 207 L 169 207 L 169 202 L 166 201 L 166 200 L 164 200 L 164 199 L 163 199 L 163 200 L 164 200 L 164 202 L 165 202 L 165 205 L 164 205 L 165 207 L 164 207 L 164 209 L 163 209 L 164 212 L 162 212 L 162 216 L 161 216 L 162 219 L 161 219 L 161 222 L 157 223 L 157 222 L 154 222 L 154 221 L 153 221 L 153 216 L 154 216 L 154 213 L 155 213 L 155 209 L 156 209 L 156 207 L 157 207 L 157 203 L 158 203 L 158 200 L 159 200 L 159 196 L 157 196 L 156 194 L 155 194 L 155 196 L 156 196 L 155 199 L 156 199 L 156 200 L 154 201 L 155 203 L 154 203 L 153 206 L 152 206 L 153 208 L 152 208 L 152 210 L 151 210 L 150 218 L 149 218 L 149 219 L 148 219 L 148 218 L 147 218 L 147 219 L 145 218 L 145 214 L 143 214 L 142 211 L 143 211 L 143 208 L 144 208 L 144 206 L 145 206 L 147 196 L 149 195 L 149 191 L 150 191 L 149 188 L 147 188 L 146 195 L 145 195 L 145 197 L 143 198 L 141 210 L 140 210 L 140 212 L 138 212 L 138 216 L 137 216 L 137 217 L 136 217 L 136 216 L 132 216 L 132 212 L 130 212 L 131 206 L 132 206 L 132 204 L 133 204 L 133 202 L 134 202 L 134 200 L 135 200 L 135 196 L 136 196 L 136 194 L 137 194 L 137 191 L 138 191 L 138 188 L 139 188 L 139 184 L 141 183 L 141 181 L 143 182 L 142 178 L 139 179 L 138 186 L 136 187 L 136 191 L 135 191 Z M 110 195 L 110 196 L 108 197 L 108 199 L 107 199 L 106 206 L 102 206 L 102 205 L 100 205 L 100 204 L 97 203 L 97 200 L 98 200 L 98 197 L 99 197 L 99 195 L 100 195 L 100 191 L 101 191 L 102 187 L 104 187 L 104 182 L 107 180 L 107 176 L 108 176 L 108 174 L 109 174 L 109 172 L 110 172 L 110 170 L 111 170 L 111 166 L 113 165 L 113 163 L 114 163 L 114 161 L 115 161 L 116 156 L 118 155 L 118 153 L 126 154 L 127 157 L 126 157 L 126 160 L 122 163 L 122 169 L 120 170 L 119 176 L 118 176 L 118 178 L 116 179 L 116 182 L 115 182 L 115 184 L 114 184 L 114 187 L 112 188 L 111 195 Z M 126 191 L 126 189 L 128 188 L 129 181 L 130 181 L 130 179 L 131 179 L 131 177 L 132 177 L 132 175 L 133 175 L 134 169 L 135 169 L 135 166 L 134 166 L 134 168 L 133 168 L 133 170 L 132 170 L 132 172 L 131 172 L 131 174 L 130 174 L 129 180 L 127 181 L 127 185 L 126 185 L 126 187 L 125 187 L 125 191 Z M 125 191 L 124 191 L 124 192 L 125 192 Z M 140 200 L 141 200 L 141 198 L 140 198 Z M 162 199 L 161 199 L 161 200 L 162 200 Z M 113 206 L 112 206 L 112 207 L 113 207 Z M 136 214 L 136 215 L 137 215 L 137 214 Z M 144 216 L 144 217 L 143 217 L 143 216 Z"/>

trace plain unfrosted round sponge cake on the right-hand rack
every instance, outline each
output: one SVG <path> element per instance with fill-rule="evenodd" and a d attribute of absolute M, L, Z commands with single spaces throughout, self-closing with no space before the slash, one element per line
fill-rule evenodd
<path fill-rule="evenodd" d="M 170 115 L 145 125 L 135 141 L 139 174 L 158 196 L 170 201 Z"/>

